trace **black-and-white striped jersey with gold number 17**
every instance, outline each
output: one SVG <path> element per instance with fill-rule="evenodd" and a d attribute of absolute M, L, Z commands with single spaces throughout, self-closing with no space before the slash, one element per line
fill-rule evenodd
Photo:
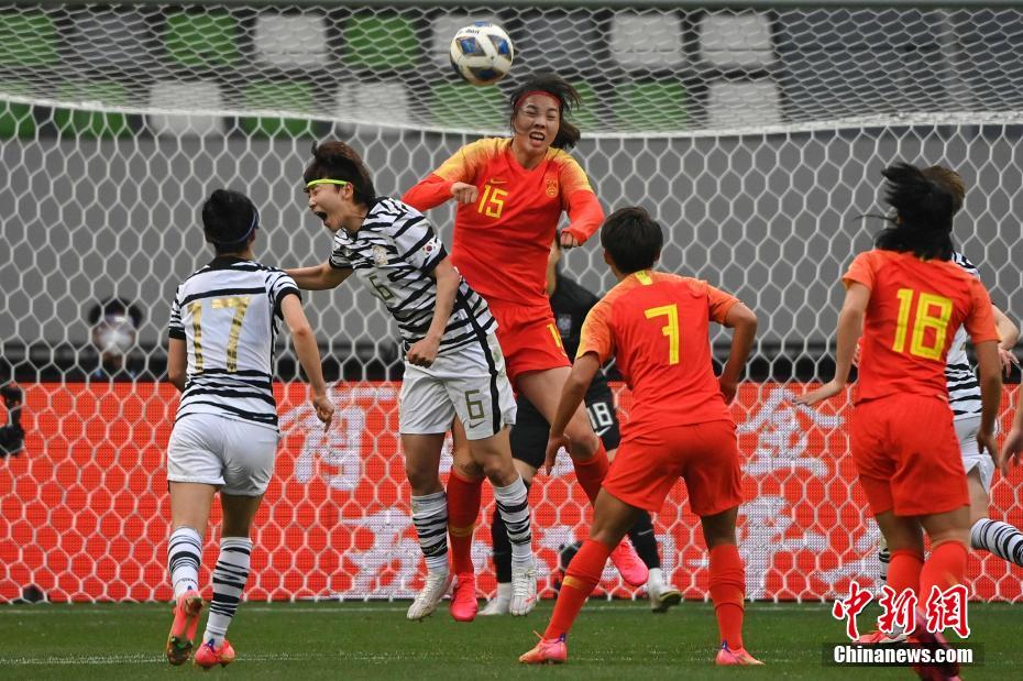
<path fill-rule="evenodd" d="M 273 352 L 280 303 L 299 295 L 273 267 L 217 257 L 178 286 L 170 338 L 188 350 L 188 380 L 177 418 L 217 414 L 277 427 Z"/>

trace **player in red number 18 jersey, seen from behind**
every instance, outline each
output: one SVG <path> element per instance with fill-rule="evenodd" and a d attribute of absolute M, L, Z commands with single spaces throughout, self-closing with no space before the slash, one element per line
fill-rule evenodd
<path fill-rule="evenodd" d="M 899 163 L 882 173 L 895 217 L 843 277 L 835 377 L 798 399 L 814 405 L 845 389 L 862 333 L 853 411 L 853 461 L 891 550 L 888 584 L 924 603 L 966 576 L 969 494 L 948 406 L 945 358 L 959 326 L 977 351 L 981 420 L 977 444 L 994 455 L 1001 394 L 998 332 L 980 281 L 949 259 L 956 200 L 919 168 Z M 931 538 L 924 561 L 921 529 Z M 916 636 L 926 631 L 916 612 Z M 952 675 L 954 669 L 942 673 Z"/>

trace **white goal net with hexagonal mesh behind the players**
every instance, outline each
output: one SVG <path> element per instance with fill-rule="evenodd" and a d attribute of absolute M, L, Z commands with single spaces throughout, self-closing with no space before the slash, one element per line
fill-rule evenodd
<path fill-rule="evenodd" d="M 848 405 L 794 408 L 791 397 L 831 377 L 838 278 L 879 229 L 859 217 L 879 210 L 880 169 L 895 160 L 964 176 L 957 243 L 1012 316 L 1023 11 L 562 4 L 0 8 L 0 381 L 16 378 L 26 397 L 23 451 L 0 461 L 0 602 L 31 586 L 54 601 L 169 596 L 163 452 L 176 396 L 158 380 L 175 286 L 209 257 L 198 209 L 213 188 L 260 207 L 258 259 L 322 262 L 330 238 L 299 185 L 312 141 L 351 142 L 377 189 L 399 196 L 460 145 L 507 134 L 509 88 L 541 69 L 583 96 L 573 153 L 605 208 L 647 207 L 668 234 L 666 270 L 758 311 L 751 381 L 734 407 L 749 596 L 877 586 Z M 451 36 L 481 20 L 515 43 L 496 87 L 461 84 L 447 63 Z M 451 207 L 430 218 L 450 242 Z M 564 271 L 596 293 L 612 283 L 595 241 Z M 110 299 L 128 305 L 101 304 Z M 352 286 L 308 295 L 306 309 L 339 418 L 319 431 L 283 344 L 283 439 L 249 597 L 406 597 L 422 565 L 397 442 L 395 329 Z M 726 337 L 713 340 L 726 351 Z M 619 398 L 625 418 L 629 395 Z M 991 514 L 1020 524 L 1013 480 L 996 483 Z M 583 536 L 588 508 L 566 457 L 531 494 L 550 595 L 559 547 Z M 484 502 L 474 552 L 487 592 L 488 491 Z M 666 574 L 705 597 L 702 536 L 681 485 L 656 530 Z M 206 557 L 204 579 L 216 551 Z M 976 597 L 1023 598 L 1023 572 L 998 559 L 971 557 L 970 576 Z M 609 570 L 602 587 L 634 593 Z"/>

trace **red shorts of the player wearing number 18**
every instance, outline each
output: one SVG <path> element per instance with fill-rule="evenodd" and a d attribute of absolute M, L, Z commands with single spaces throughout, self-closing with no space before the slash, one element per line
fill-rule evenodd
<path fill-rule="evenodd" d="M 954 510 L 970 503 L 948 404 L 890 395 L 853 409 L 853 462 L 875 515 Z"/>

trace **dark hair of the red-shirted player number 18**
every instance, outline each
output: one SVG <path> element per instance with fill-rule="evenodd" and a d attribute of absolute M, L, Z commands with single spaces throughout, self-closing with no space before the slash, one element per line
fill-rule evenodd
<path fill-rule="evenodd" d="M 881 175 L 888 180 L 884 201 L 895 209 L 892 226 L 881 230 L 875 245 L 884 251 L 912 252 L 925 260 L 952 257 L 952 216 L 956 198 L 944 183 L 928 178 L 916 166 L 895 163 Z"/>

